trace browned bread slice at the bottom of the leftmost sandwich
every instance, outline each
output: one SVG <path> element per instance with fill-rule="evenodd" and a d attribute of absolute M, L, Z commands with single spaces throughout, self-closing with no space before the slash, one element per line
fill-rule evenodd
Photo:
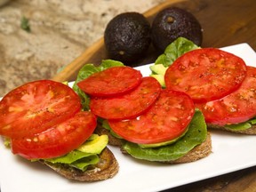
<path fill-rule="evenodd" d="M 63 164 L 52 164 L 46 161 L 40 162 L 49 166 L 52 170 L 58 172 L 69 180 L 86 182 L 110 179 L 114 177 L 119 170 L 119 164 L 116 161 L 116 157 L 109 148 L 104 148 L 100 153 L 100 162 L 93 167 L 89 167 L 85 172 L 77 170 L 76 168 L 64 166 Z"/>

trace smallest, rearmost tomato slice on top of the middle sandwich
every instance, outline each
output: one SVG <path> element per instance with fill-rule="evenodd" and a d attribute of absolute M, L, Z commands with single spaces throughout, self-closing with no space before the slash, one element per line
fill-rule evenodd
<path fill-rule="evenodd" d="M 77 86 L 92 96 L 115 96 L 130 92 L 141 82 L 142 75 L 139 70 L 130 67 L 113 67 L 77 83 Z"/>

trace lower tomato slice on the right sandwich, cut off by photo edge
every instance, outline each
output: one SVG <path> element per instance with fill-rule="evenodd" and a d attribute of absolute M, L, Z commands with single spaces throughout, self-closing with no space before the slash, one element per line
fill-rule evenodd
<path fill-rule="evenodd" d="M 208 124 L 238 124 L 256 116 L 256 68 L 247 67 L 247 76 L 236 92 L 196 107 L 201 109 Z"/>

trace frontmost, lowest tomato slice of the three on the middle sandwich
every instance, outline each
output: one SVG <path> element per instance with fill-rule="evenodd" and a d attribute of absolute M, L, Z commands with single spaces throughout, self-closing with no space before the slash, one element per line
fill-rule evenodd
<path fill-rule="evenodd" d="M 153 144 L 179 137 L 194 113 L 193 100 L 186 93 L 165 89 L 145 114 L 132 120 L 108 120 L 108 123 L 124 140 Z"/>

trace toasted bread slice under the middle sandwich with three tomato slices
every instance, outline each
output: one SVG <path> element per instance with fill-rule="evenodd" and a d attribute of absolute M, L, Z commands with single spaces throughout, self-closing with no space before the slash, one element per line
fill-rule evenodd
<path fill-rule="evenodd" d="M 96 132 L 98 134 L 107 134 L 108 135 L 108 144 L 117 146 L 121 148 L 122 153 L 127 154 L 126 151 L 122 148 L 122 140 L 114 137 L 110 134 L 110 132 L 107 129 L 104 129 L 103 127 L 100 127 L 98 125 Z M 169 161 L 164 162 L 167 164 L 183 164 L 183 163 L 189 163 L 197 161 L 201 158 L 204 158 L 206 156 L 209 156 L 212 153 L 212 137 L 211 133 L 207 132 L 206 140 L 204 140 L 203 143 L 193 148 L 191 151 L 188 152 L 185 156 L 180 157 L 179 159 L 175 161 Z"/>

